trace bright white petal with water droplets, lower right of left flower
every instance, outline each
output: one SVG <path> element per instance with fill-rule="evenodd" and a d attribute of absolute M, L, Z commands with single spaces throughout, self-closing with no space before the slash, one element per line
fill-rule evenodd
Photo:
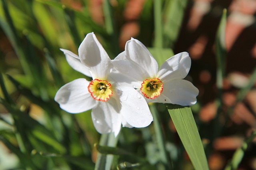
<path fill-rule="evenodd" d="M 153 121 L 148 104 L 134 88 L 118 86 L 117 95 L 121 101 L 120 113 L 133 127 L 146 127 Z"/>

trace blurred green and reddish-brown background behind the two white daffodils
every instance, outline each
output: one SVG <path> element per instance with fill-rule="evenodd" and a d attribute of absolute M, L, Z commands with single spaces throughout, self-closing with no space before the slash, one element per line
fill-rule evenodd
<path fill-rule="evenodd" d="M 110 58 L 134 37 L 159 61 L 187 51 L 187 80 L 199 89 L 192 106 L 211 170 L 222 170 L 246 143 L 239 170 L 256 170 L 256 0 L 2 0 L 0 2 L 0 169 L 94 169 L 98 134 L 90 111 L 70 114 L 53 98 L 85 77 L 60 48 L 76 54 L 94 32 Z M 216 36 L 226 8 L 224 68 L 218 79 Z M 156 14 L 160 14 L 160 19 Z M 160 53 L 155 37 L 161 25 Z M 157 26 L 158 25 L 158 26 Z M 87 78 L 88 80 L 90 78 Z M 218 84 L 220 83 L 220 85 Z M 174 169 L 193 169 L 164 104 L 157 105 Z M 154 122 L 152 122 L 154 123 Z M 247 145 L 248 144 L 248 145 Z M 245 145 L 245 144 L 244 144 Z M 123 128 L 113 169 L 161 169 L 152 124 Z"/>

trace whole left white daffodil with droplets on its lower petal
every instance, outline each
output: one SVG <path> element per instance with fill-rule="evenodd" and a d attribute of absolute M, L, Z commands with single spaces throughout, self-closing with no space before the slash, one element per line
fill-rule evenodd
<path fill-rule="evenodd" d="M 73 80 L 62 86 L 54 100 L 69 113 L 92 109 L 92 121 L 99 133 L 114 132 L 117 136 L 123 127 L 146 127 L 153 117 L 146 100 L 134 88 L 120 86 L 112 79 L 113 64 L 94 35 L 88 33 L 78 54 L 61 49 L 70 66 L 91 76 Z"/>

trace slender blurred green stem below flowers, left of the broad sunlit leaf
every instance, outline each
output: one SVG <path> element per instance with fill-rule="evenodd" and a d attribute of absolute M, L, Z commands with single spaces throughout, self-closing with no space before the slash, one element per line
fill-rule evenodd
<path fill-rule="evenodd" d="M 164 134 L 162 132 L 161 123 L 160 123 L 160 120 L 159 120 L 156 105 L 155 104 L 150 104 L 149 108 L 150 108 L 150 111 L 151 111 L 151 113 L 153 115 L 153 118 L 154 118 L 153 125 L 154 125 L 154 129 L 155 129 L 155 133 L 156 133 L 156 141 L 157 141 L 157 144 L 158 144 L 158 149 L 160 151 L 160 158 L 162 160 L 162 163 L 166 167 L 166 169 L 171 170 L 172 166 L 170 165 L 170 163 L 172 161 L 170 159 L 170 156 L 168 156 L 168 154 L 166 152 Z"/>

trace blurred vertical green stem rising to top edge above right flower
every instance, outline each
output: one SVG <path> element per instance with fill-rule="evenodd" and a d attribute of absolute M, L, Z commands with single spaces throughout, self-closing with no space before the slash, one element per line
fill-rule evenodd
<path fill-rule="evenodd" d="M 154 46 L 158 48 L 163 47 L 162 37 L 162 0 L 154 0 L 154 27 L 155 27 L 155 41 Z"/>

